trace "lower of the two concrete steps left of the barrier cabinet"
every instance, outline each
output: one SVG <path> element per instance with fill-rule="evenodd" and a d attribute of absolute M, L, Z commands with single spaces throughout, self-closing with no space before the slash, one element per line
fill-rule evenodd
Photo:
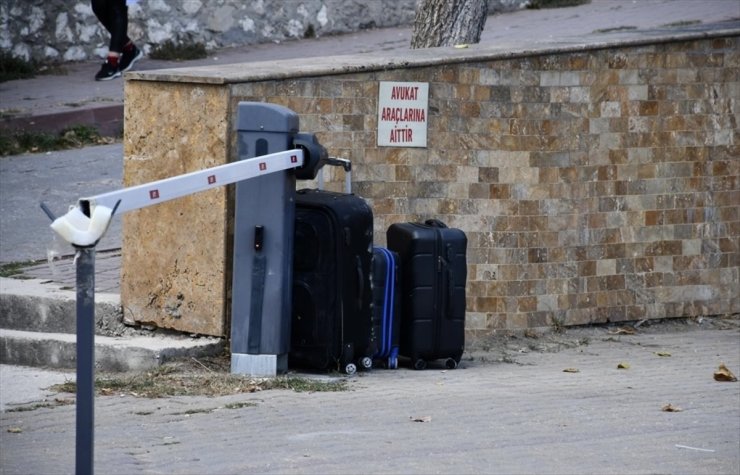
<path fill-rule="evenodd" d="M 77 336 L 0 329 L 3 364 L 74 369 Z M 223 351 L 225 340 L 211 337 L 95 337 L 98 371 L 141 371 L 174 358 L 213 356 Z"/>

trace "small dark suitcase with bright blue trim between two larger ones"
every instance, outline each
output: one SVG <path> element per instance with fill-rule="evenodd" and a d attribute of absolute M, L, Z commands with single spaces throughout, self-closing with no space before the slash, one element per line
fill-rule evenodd
<path fill-rule="evenodd" d="M 373 360 L 380 361 L 390 369 L 398 367 L 400 274 L 397 253 L 384 247 L 373 248 Z"/>

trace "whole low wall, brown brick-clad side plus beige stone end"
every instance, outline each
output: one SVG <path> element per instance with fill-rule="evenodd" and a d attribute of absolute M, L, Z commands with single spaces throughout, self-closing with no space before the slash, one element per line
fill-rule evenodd
<path fill-rule="evenodd" d="M 400 221 L 466 232 L 470 331 L 737 313 L 739 52 L 734 32 L 136 72 L 125 180 L 232 161 L 238 102 L 281 104 L 353 161 L 377 244 Z M 429 83 L 427 148 L 376 145 L 379 81 Z M 209 193 L 126 216 L 135 319 L 228 333 L 232 204 Z"/>

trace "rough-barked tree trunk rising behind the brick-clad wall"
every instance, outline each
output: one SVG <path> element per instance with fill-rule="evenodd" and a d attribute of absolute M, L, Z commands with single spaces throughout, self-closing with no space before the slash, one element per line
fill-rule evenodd
<path fill-rule="evenodd" d="M 411 47 L 478 43 L 487 18 L 487 0 L 420 0 Z"/>

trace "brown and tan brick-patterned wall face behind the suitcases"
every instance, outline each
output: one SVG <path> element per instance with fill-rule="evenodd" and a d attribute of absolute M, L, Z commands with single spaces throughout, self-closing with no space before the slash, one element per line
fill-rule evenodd
<path fill-rule="evenodd" d="M 465 231 L 470 331 L 738 313 L 739 51 L 729 35 L 412 52 L 320 75 L 295 64 L 226 78 L 224 112 L 241 100 L 296 111 L 353 161 L 379 245 L 399 221 Z M 379 81 L 429 83 L 427 148 L 376 145 Z"/>

